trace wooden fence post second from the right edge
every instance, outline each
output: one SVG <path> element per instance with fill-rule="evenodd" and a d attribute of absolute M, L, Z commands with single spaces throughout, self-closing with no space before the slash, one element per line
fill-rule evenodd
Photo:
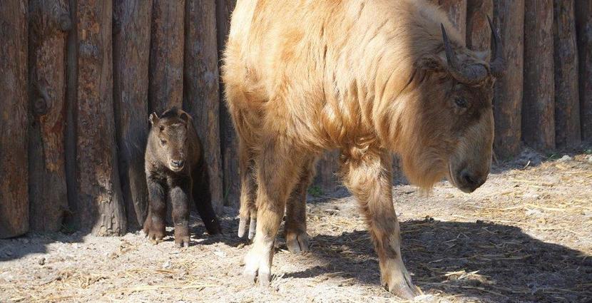
<path fill-rule="evenodd" d="M 555 138 L 566 147 L 581 143 L 575 3 L 555 0 L 553 7 Z"/>

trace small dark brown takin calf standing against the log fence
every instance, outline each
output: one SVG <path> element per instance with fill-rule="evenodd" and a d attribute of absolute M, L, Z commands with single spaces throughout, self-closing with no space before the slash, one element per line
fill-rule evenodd
<path fill-rule="evenodd" d="M 167 201 L 173 207 L 176 245 L 189 246 L 190 200 L 195 200 L 210 235 L 220 233 L 203 148 L 193 120 L 188 113 L 171 108 L 160 118 L 156 113 L 150 114 L 150 125 L 145 163 L 149 206 L 144 232 L 148 239 L 163 240 Z"/>

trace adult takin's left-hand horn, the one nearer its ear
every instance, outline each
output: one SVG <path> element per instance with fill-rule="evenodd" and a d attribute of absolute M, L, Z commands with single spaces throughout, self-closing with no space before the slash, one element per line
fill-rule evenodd
<path fill-rule="evenodd" d="M 481 83 L 481 81 L 483 81 L 483 79 L 488 75 L 488 71 L 485 66 L 481 64 L 471 64 L 470 66 L 463 68 L 459 63 L 458 58 L 456 58 L 456 53 L 454 53 L 454 50 L 450 46 L 450 41 L 446 35 L 444 24 L 440 24 L 440 26 L 442 26 L 442 39 L 444 39 L 446 61 L 448 62 L 448 70 L 451 75 L 461 83 L 466 83 L 469 85 Z"/>

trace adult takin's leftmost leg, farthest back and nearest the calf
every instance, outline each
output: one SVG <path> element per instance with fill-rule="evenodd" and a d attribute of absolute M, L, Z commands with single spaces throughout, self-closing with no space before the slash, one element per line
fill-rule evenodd
<path fill-rule="evenodd" d="M 255 155 L 244 139 L 239 139 L 238 159 L 240 171 L 240 209 L 238 223 L 238 237 L 243 237 L 247 226 L 249 239 L 255 236 L 257 227 L 257 206 L 255 205 Z"/>

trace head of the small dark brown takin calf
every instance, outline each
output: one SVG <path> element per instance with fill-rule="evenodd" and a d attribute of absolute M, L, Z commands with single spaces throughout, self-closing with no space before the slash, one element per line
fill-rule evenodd
<path fill-rule="evenodd" d="M 173 172 L 183 170 L 188 154 L 187 133 L 189 115 L 173 108 L 165 111 L 160 118 L 150 114 L 155 157 Z"/>

